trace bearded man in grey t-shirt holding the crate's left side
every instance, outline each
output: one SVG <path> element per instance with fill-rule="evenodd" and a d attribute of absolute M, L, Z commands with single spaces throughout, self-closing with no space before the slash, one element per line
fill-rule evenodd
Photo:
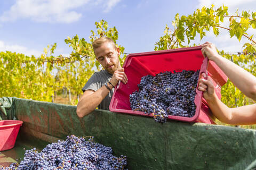
<path fill-rule="evenodd" d="M 109 110 L 114 87 L 119 81 L 125 84 L 128 81 L 119 63 L 120 50 L 111 38 L 98 38 L 93 41 L 92 46 L 96 60 L 105 70 L 94 73 L 83 87 L 84 94 L 76 109 L 78 117 L 91 113 L 96 107 Z"/>

